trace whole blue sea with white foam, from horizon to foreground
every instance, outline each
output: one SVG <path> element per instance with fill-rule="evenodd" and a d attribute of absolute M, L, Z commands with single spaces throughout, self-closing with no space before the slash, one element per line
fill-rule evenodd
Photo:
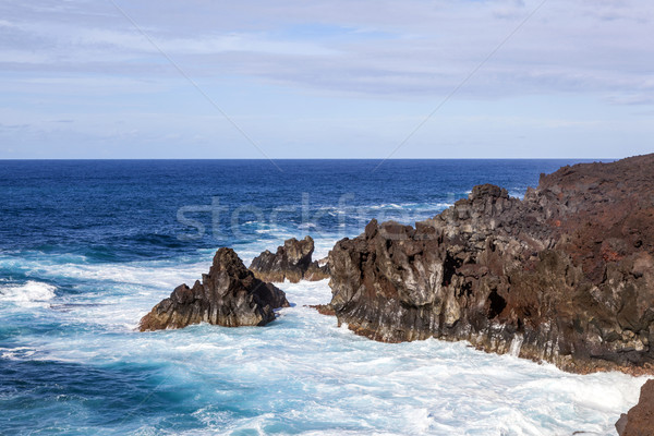
<path fill-rule="evenodd" d="M 220 246 L 249 264 L 311 234 L 320 258 L 574 162 L 0 161 L 0 434 L 613 435 L 643 379 L 373 342 L 305 307 L 327 280 L 280 284 L 294 304 L 264 328 L 135 330 Z"/>

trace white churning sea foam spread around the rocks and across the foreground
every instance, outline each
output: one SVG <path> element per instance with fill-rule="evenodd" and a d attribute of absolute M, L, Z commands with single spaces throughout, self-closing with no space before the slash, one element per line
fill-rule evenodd
<path fill-rule="evenodd" d="M 328 244 L 317 240 L 316 245 Z M 144 422 L 138 434 L 268 434 L 286 428 L 303 435 L 613 435 L 614 422 L 638 401 L 644 383 L 618 373 L 567 374 L 553 365 L 486 354 L 464 342 L 371 341 L 307 307 L 330 301 L 328 280 L 279 284 L 293 306 L 280 310 L 265 328 L 197 325 L 134 331 L 141 316 L 174 286 L 206 272 L 210 258 L 207 251 L 206 259 L 193 263 L 23 265 L 32 277 L 92 284 L 57 299 L 68 304 L 65 311 L 52 311 L 63 334 L 22 337 L 21 348 L 0 349 L 0 355 L 158 365 L 161 389 L 193 392 L 185 401 L 204 428 L 173 432 Z M 0 292 L 0 303 L 55 298 L 55 288 L 38 281 L 5 286 Z M 66 326 L 75 326 L 69 335 L 66 328 L 73 327 Z M 519 351 L 518 341 L 512 349 Z M 226 403 L 247 413 L 219 407 Z"/>

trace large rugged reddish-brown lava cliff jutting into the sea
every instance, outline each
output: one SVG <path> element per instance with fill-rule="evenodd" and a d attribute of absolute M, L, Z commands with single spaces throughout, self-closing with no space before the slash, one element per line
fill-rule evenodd
<path fill-rule="evenodd" d="M 468 340 L 579 373 L 651 373 L 654 155 L 494 185 L 415 228 L 371 221 L 329 253 L 331 308 L 372 339 Z"/>

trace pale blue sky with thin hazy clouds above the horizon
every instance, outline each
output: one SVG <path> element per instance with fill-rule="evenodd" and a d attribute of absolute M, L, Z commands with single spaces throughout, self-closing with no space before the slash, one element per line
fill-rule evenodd
<path fill-rule="evenodd" d="M 0 159 L 651 152 L 651 0 L 0 0 Z"/>

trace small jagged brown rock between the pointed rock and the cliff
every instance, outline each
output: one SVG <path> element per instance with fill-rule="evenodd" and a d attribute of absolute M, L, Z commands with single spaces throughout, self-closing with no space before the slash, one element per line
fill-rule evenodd
<path fill-rule="evenodd" d="M 265 281 L 282 282 L 284 279 L 292 283 L 300 280 L 323 280 L 329 277 L 327 266 L 312 262 L 314 241 L 305 237 L 298 241 L 295 238 L 286 240 L 272 254 L 268 250 L 255 257 L 250 270 Z"/>

